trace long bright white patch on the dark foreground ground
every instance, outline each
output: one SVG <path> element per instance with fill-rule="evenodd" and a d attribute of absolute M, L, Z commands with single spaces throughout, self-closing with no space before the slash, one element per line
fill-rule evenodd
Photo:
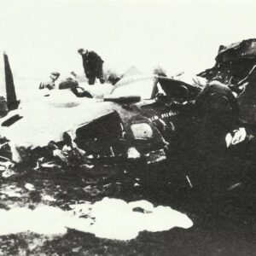
<path fill-rule="evenodd" d="M 171 207 L 154 207 L 148 201 L 127 203 L 106 197 L 94 204 L 85 202 L 70 207 L 71 211 L 44 205 L 34 210 L 26 207 L 1 209 L 0 236 L 27 231 L 57 236 L 64 235 L 69 228 L 101 238 L 131 240 L 143 230 L 188 229 L 193 225 L 187 215 Z"/>

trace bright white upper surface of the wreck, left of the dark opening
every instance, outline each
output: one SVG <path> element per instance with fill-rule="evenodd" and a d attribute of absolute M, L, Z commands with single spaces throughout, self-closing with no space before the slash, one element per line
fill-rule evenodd
<path fill-rule="evenodd" d="M 17 153 L 20 148 L 44 148 L 51 141 L 60 142 L 64 132 L 74 134 L 79 126 L 108 113 L 113 113 L 110 102 L 88 100 L 72 108 L 56 108 L 44 101 L 32 102 L 1 119 L 0 134 L 12 145 L 13 160 L 19 162 L 22 160 Z"/>

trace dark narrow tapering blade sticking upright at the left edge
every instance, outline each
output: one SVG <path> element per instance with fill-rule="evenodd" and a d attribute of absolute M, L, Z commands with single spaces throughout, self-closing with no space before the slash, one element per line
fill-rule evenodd
<path fill-rule="evenodd" d="M 9 67 L 8 55 L 6 55 L 6 53 L 3 53 L 3 61 L 4 61 L 4 72 L 5 72 L 7 106 L 9 110 L 14 110 L 18 108 L 19 102 L 17 101 L 17 98 L 16 98 L 15 83 L 14 83 L 12 71 Z"/>

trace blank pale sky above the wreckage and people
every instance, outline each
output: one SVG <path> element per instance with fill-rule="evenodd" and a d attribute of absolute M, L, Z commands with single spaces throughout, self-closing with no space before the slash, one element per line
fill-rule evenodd
<path fill-rule="evenodd" d="M 219 44 L 256 38 L 256 2 L 1 0 L 0 33 L 15 78 L 81 73 L 81 47 L 119 72 L 196 73 L 212 67 Z"/>

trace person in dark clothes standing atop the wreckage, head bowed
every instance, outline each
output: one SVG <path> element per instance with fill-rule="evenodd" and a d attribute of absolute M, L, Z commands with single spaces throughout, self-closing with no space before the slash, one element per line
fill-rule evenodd
<path fill-rule="evenodd" d="M 105 83 L 103 79 L 103 62 L 101 56 L 94 51 L 79 49 L 79 55 L 82 56 L 84 73 L 89 84 L 95 84 L 96 79 L 100 79 L 101 84 Z"/>

